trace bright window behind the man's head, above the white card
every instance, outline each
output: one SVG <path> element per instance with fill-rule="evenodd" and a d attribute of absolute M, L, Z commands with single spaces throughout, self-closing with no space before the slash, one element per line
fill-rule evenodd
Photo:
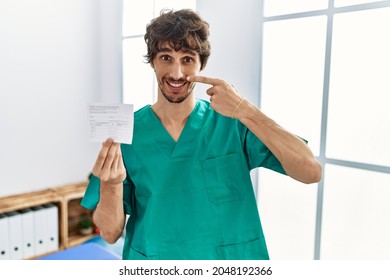
<path fill-rule="evenodd" d="M 146 25 L 162 9 L 195 10 L 195 4 L 196 0 L 123 0 L 123 103 L 134 104 L 137 110 L 156 98 L 154 72 L 144 59 Z"/>

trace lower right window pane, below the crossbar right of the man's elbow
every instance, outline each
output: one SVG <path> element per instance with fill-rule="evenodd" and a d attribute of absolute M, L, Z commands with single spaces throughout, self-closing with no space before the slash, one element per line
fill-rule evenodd
<path fill-rule="evenodd" d="M 325 166 L 321 259 L 390 259 L 390 174 Z"/>

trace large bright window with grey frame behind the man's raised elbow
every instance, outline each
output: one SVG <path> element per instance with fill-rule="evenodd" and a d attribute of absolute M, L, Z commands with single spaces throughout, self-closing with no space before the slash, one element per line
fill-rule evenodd
<path fill-rule="evenodd" d="M 260 171 L 271 258 L 388 259 L 390 1 L 264 0 L 263 13 L 261 109 L 324 167 L 315 186 Z"/>

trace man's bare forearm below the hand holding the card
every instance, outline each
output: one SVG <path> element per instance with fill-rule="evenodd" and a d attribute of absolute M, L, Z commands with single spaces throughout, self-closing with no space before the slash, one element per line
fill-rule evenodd
<path fill-rule="evenodd" d="M 100 235 L 108 243 L 115 243 L 122 235 L 125 223 L 123 184 L 106 185 L 101 182 L 100 201 L 93 214 Z"/>

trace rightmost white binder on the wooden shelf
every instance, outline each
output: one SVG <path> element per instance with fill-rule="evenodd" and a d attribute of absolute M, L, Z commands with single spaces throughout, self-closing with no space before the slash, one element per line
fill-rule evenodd
<path fill-rule="evenodd" d="M 57 251 L 59 248 L 59 223 L 58 223 L 58 207 L 55 204 L 44 205 L 46 209 L 46 249 L 47 252 Z"/>

